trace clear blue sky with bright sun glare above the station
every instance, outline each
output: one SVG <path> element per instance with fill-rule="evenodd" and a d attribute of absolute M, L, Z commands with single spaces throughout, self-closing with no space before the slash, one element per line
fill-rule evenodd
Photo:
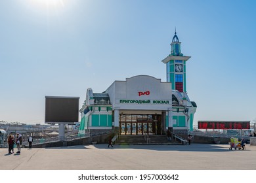
<path fill-rule="evenodd" d="M 151 75 L 175 27 L 198 120 L 256 118 L 256 1 L 0 1 L 0 120 L 43 123 L 45 95 Z"/>

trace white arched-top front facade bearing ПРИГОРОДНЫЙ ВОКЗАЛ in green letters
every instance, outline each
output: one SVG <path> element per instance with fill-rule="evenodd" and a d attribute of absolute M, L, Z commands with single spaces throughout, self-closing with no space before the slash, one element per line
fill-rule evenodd
<path fill-rule="evenodd" d="M 119 114 L 162 114 L 166 127 L 172 127 L 171 83 L 152 76 L 139 75 L 125 81 L 115 81 L 107 90 L 114 110 L 114 126 L 119 126 Z"/>

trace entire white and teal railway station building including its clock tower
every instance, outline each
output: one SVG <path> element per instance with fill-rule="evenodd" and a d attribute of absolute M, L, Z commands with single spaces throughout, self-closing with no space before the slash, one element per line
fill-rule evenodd
<path fill-rule="evenodd" d="M 192 131 L 196 103 L 186 90 L 186 61 L 177 33 L 171 53 L 162 60 L 166 81 L 138 75 L 116 80 L 105 92 L 87 89 L 79 110 L 79 135 L 89 131 L 112 130 L 119 135 L 165 135 L 165 131 Z"/>

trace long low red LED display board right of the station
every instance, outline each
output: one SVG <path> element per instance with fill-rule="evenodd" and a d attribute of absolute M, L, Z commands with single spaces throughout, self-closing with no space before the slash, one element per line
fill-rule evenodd
<path fill-rule="evenodd" d="M 250 129 L 250 122 L 198 121 L 198 129 Z"/>

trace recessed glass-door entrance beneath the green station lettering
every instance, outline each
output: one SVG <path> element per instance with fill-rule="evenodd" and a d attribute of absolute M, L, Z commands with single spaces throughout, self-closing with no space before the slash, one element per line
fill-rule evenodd
<path fill-rule="evenodd" d="M 120 135 L 161 135 L 161 114 L 119 114 Z"/>

